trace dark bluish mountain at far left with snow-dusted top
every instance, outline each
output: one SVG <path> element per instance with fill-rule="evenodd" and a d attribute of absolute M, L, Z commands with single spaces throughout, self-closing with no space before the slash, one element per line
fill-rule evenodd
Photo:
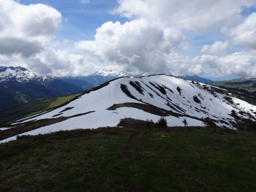
<path fill-rule="evenodd" d="M 18 67 L 0 66 L 0 111 L 36 99 L 56 97 L 82 91 L 61 80 L 40 76 Z"/>

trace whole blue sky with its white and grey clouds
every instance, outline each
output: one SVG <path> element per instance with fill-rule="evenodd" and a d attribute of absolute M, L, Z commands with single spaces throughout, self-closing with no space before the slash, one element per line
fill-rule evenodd
<path fill-rule="evenodd" d="M 0 65 L 256 77 L 256 1 L 0 0 Z"/>

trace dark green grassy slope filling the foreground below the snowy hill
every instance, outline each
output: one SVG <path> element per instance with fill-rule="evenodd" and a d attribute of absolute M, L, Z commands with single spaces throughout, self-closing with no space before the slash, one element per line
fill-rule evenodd
<path fill-rule="evenodd" d="M 0 191 L 254 191 L 256 134 L 98 128 L 0 144 Z"/>

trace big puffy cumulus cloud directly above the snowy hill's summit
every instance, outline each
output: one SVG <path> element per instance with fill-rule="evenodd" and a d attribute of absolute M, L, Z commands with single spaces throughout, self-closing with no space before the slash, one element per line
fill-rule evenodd
<path fill-rule="evenodd" d="M 179 31 L 137 19 L 124 24 L 104 23 L 97 29 L 95 40 L 80 41 L 76 47 L 105 63 L 136 66 L 143 72 L 160 72 L 164 55 L 171 49 L 182 49 L 183 39 Z"/>

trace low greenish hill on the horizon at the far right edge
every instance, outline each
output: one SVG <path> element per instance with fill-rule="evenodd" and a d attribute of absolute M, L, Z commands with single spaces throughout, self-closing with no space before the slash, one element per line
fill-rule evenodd
<path fill-rule="evenodd" d="M 217 81 L 213 85 L 253 92 L 256 91 L 256 78 L 241 77 L 230 81 Z"/>

